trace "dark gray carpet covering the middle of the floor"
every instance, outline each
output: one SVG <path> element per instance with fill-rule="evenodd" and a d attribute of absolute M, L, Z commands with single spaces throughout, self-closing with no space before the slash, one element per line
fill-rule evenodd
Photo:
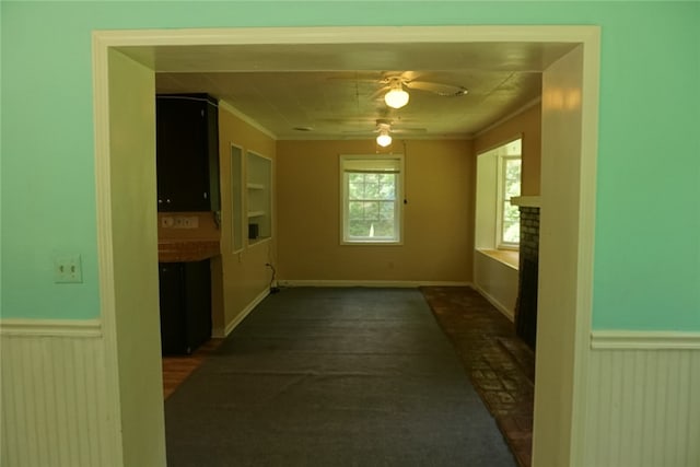
<path fill-rule="evenodd" d="M 165 402 L 177 466 L 515 466 L 415 289 L 268 296 Z"/>

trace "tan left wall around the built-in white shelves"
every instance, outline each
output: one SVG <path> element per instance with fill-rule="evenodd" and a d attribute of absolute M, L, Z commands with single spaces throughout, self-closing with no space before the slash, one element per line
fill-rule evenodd
<path fill-rule="evenodd" d="M 276 238 L 247 245 L 244 240 L 244 249 L 233 253 L 232 227 L 232 194 L 231 194 L 231 144 L 236 144 L 245 151 L 254 151 L 258 154 L 276 160 L 276 142 L 265 133 L 253 128 L 238 117 L 226 110 L 225 106 L 219 107 L 219 153 L 221 171 L 221 260 L 212 261 L 212 267 L 220 268 L 221 281 L 212 283 L 214 303 L 213 307 L 223 308 L 223 315 L 213 316 L 213 332 L 221 335 L 230 330 L 231 326 L 242 317 L 248 306 L 265 293 L 271 279 L 271 270 L 267 262 L 276 262 Z M 245 176 L 246 157 L 243 157 Z M 245 179 L 245 178 L 244 178 Z M 245 185 L 245 183 L 244 183 Z M 244 206 L 245 196 L 244 190 Z M 272 222 L 275 224 L 275 221 Z M 244 222 L 245 229 L 247 223 Z M 247 234 L 246 234 L 247 236 Z M 217 303 L 221 300 L 223 303 Z"/>

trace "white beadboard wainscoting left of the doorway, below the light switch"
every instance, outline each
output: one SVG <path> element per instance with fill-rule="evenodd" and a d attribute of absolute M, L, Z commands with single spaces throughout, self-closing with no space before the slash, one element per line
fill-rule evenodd
<path fill-rule="evenodd" d="M 0 324 L 0 465 L 113 465 L 98 323 Z"/>

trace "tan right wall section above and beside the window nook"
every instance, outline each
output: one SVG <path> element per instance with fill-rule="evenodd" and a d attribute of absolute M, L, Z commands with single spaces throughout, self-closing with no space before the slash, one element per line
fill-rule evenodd
<path fill-rule="evenodd" d="M 505 141 L 523 136 L 523 196 L 539 195 L 539 167 L 541 156 L 541 103 L 537 103 L 506 121 L 480 133 L 474 140 L 474 152 L 493 149 Z"/>

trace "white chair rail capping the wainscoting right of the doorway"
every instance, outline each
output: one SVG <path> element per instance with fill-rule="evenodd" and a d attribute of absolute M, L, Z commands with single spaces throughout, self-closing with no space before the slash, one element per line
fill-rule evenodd
<path fill-rule="evenodd" d="M 700 332 L 594 330 L 591 331 L 591 348 L 620 350 L 700 350 Z"/>

